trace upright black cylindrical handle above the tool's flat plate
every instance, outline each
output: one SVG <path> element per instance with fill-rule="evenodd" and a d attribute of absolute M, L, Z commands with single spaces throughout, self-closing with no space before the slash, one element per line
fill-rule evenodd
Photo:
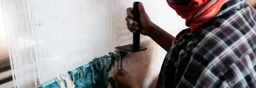
<path fill-rule="evenodd" d="M 140 48 L 140 32 L 141 32 L 141 23 L 140 23 L 140 11 L 139 11 L 139 3 L 140 2 L 134 2 L 133 3 L 133 21 L 136 21 L 138 23 L 139 30 L 136 31 L 136 33 L 133 33 L 133 48 L 139 49 Z"/>

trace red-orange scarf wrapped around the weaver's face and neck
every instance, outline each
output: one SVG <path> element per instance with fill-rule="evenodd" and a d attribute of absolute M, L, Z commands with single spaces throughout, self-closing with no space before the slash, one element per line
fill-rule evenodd
<path fill-rule="evenodd" d="M 191 0 L 190 2 L 194 3 L 195 6 L 174 5 L 168 0 L 166 1 L 179 16 L 186 20 L 186 26 L 190 27 L 191 31 L 198 31 L 229 0 Z"/>

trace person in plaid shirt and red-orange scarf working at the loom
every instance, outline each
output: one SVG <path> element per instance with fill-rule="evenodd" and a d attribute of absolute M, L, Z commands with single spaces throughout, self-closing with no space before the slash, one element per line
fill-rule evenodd
<path fill-rule="evenodd" d="M 246 0 L 167 0 L 186 20 L 176 37 L 150 21 L 139 4 L 141 34 L 167 51 L 156 88 L 256 88 L 256 10 Z M 138 30 L 127 9 L 129 31 Z M 160 69 L 160 68 L 159 68 Z M 141 88 L 123 68 L 120 88 Z"/>

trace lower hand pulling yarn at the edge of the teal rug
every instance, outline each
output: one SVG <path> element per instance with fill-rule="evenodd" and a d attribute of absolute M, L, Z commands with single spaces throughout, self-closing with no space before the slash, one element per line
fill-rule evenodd
<path fill-rule="evenodd" d="M 141 88 L 137 77 L 131 72 L 123 68 L 117 68 L 117 71 L 118 73 L 115 75 L 115 79 L 119 88 Z"/>

